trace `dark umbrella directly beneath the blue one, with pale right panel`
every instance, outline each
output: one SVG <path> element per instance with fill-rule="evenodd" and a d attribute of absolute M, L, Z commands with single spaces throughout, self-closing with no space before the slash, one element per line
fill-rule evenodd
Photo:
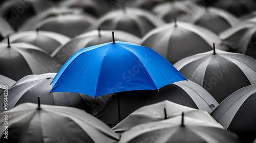
<path fill-rule="evenodd" d="M 96 116 L 106 124 L 115 125 L 140 107 L 165 100 L 205 110 L 208 113 L 218 106 L 218 102 L 198 84 L 180 81 L 166 85 L 159 91 L 137 90 L 114 93 L 105 104 L 95 105 L 97 109 L 102 108 Z"/>

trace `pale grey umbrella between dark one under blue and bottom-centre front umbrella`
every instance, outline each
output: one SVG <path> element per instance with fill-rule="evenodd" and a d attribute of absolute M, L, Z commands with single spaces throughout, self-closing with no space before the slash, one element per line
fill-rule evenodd
<path fill-rule="evenodd" d="M 212 126 L 223 128 L 205 111 L 186 107 L 170 101 L 162 101 L 139 108 L 112 129 L 116 133 L 122 134 L 123 132 L 130 130 L 132 127 L 140 124 L 151 122 L 155 123 L 156 121 L 165 122 L 167 118 L 176 118 L 177 116 L 181 115 L 182 112 L 185 113 L 185 117 L 194 118 L 202 122 L 210 123 Z"/>

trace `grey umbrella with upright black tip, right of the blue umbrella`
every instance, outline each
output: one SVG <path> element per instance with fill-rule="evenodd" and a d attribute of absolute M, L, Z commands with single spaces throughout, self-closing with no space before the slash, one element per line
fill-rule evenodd
<path fill-rule="evenodd" d="M 242 54 L 209 51 L 184 58 L 174 66 L 219 103 L 234 91 L 256 83 L 256 60 Z"/>

